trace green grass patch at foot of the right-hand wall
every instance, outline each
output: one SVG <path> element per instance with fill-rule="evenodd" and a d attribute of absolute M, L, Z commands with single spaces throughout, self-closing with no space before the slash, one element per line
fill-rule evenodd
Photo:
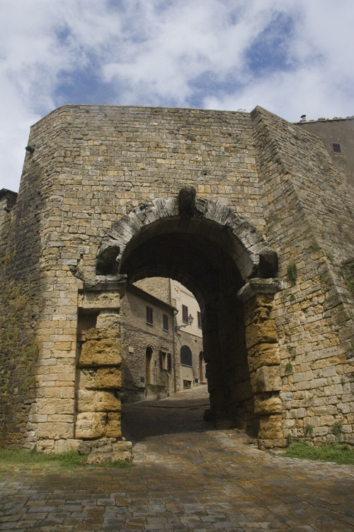
<path fill-rule="evenodd" d="M 354 464 L 354 449 L 346 443 L 326 443 L 321 447 L 312 447 L 307 443 L 292 443 L 282 456 L 318 462 L 336 462 L 342 465 Z"/>

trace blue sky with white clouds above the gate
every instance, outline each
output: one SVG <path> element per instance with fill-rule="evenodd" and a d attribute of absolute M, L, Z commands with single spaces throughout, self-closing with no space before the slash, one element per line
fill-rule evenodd
<path fill-rule="evenodd" d="M 0 189 L 66 104 L 354 114 L 353 0 L 0 0 Z"/>

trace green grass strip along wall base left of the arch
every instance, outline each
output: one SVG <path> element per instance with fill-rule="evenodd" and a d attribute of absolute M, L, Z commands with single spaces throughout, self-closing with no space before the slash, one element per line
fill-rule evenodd
<path fill-rule="evenodd" d="M 47 455 L 36 453 L 33 450 L 5 450 L 0 449 L 0 465 L 59 465 L 59 467 L 82 467 L 86 465 L 88 455 L 81 455 L 76 450 L 69 450 L 67 453 Z M 101 464 L 104 467 L 132 467 L 132 462 L 128 460 L 113 460 Z"/>

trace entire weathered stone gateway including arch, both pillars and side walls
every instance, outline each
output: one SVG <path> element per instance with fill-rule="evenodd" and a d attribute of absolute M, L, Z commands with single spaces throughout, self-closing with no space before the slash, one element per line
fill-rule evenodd
<path fill-rule="evenodd" d="M 260 108 L 64 106 L 28 145 L 0 250 L 38 358 L 27 392 L 1 397 L 1 445 L 117 447 L 119 294 L 156 275 L 200 304 L 212 418 L 266 446 L 334 440 L 333 426 L 353 443 L 354 193 L 320 140 Z"/>

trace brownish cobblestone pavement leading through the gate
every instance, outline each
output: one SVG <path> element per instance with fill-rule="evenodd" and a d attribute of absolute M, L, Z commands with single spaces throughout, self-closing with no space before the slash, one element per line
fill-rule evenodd
<path fill-rule="evenodd" d="M 280 458 L 205 426 L 202 392 L 125 406 L 130 469 L 0 464 L 0 530 L 354 531 L 353 466 Z"/>

